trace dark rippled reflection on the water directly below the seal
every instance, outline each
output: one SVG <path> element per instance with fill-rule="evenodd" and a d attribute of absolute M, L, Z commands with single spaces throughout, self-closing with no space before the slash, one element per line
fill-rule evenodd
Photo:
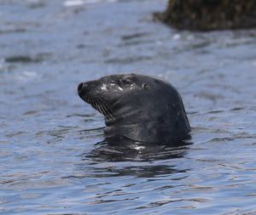
<path fill-rule="evenodd" d="M 154 161 L 182 158 L 185 156 L 186 150 L 188 148 L 184 145 L 180 147 L 147 145 L 132 142 L 129 139 L 121 139 L 118 143 L 113 144 L 104 140 L 96 144 L 96 149 L 90 151 L 89 154 L 84 153 L 82 160 L 88 161 L 90 159 L 90 166 L 95 166 L 96 176 L 90 174 L 90 177 L 100 177 L 100 173 L 102 173 L 103 177 L 137 176 L 152 178 L 164 174 L 184 173 L 185 170 L 178 170 L 170 164 L 154 165 Z M 109 162 L 111 164 L 108 166 Z M 117 164 L 113 165 L 115 162 Z M 126 162 L 127 164 L 123 164 L 120 168 L 119 162 Z M 101 163 L 104 167 L 98 167 Z"/>

